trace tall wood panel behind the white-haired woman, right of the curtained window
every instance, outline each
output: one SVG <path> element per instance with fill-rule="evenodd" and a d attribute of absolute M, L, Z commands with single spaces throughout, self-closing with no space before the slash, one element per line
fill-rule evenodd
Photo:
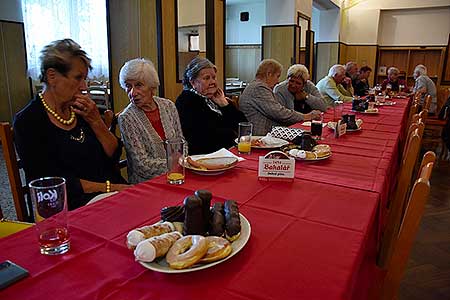
<path fill-rule="evenodd" d="M 109 16 L 111 89 L 117 112 L 129 102 L 119 85 L 123 64 L 133 58 L 145 57 L 158 68 L 156 0 L 109 0 Z"/>

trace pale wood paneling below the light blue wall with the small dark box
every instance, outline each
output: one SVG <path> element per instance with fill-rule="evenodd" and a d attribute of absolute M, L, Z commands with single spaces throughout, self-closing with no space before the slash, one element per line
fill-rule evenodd
<path fill-rule="evenodd" d="M 255 78 L 256 69 L 261 62 L 260 45 L 227 46 L 226 77 L 239 78 L 250 82 Z"/>

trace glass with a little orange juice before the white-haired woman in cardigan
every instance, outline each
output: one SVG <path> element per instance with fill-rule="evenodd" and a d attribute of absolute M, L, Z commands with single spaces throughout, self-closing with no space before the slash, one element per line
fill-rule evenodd
<path fill-rule="evenodd" d="M 168 139 L 164 143 L 166 146 L 167 183 L 183 184 L 186 141 L 179 138 Z"/>

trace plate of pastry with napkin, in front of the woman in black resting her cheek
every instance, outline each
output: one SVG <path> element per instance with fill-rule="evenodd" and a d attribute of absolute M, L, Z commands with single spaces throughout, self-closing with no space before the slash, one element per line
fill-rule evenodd
<path fill-rule="evenodd" d="M 238 159 L 232 156 L 205 157 L 204 155 L 191 155 L 182 162 L 186 169 L 201 175 L 218 175 L 234 168 Z"/>

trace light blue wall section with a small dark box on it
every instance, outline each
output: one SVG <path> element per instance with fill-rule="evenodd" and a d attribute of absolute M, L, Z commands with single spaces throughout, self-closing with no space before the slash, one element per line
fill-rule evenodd
<path fill-rule="evenodd" d="M 249 12 L 247 22 L 240 21 L 241 12 Z M 227 5 L 226 44 L 261 44 L 261 26 L 265 23 L 264 2 Z"/>

